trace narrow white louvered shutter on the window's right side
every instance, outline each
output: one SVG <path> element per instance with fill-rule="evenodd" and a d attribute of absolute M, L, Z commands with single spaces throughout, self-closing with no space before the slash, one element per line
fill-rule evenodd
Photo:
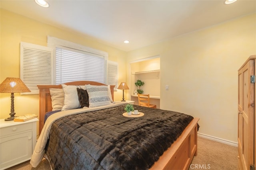
<path fill-rule="evenodd" d="M 118 88 L 118 63 L 114 61 L 107 62 L 107 84 L 115 85 L 114 90 Z"/>

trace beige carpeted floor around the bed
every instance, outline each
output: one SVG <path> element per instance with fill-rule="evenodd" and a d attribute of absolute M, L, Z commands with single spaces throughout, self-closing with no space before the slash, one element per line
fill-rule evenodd
<path fill-rule="evenodd" d="M 237 156 L 237 147 L 198 137 L 197 156 L 194 156 L 189 170 L 238 170 Z M 36 168 L 26 161 L 7 170 L 51 170 L 51 168 L 48 160 L 43 159 Z"/>

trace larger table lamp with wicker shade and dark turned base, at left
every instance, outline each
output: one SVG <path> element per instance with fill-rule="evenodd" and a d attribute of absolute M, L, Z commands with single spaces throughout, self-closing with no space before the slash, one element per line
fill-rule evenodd
<path fill-rule="evenodd" d="M 20 80 L 20 78 L 7 77 L 0 84 L 0 93 L 11 93 L 11 112 L 10 117 L 4 119 L 11 121 L 14 119 L 14 93 L 31 92 L 28 87 Z"/>

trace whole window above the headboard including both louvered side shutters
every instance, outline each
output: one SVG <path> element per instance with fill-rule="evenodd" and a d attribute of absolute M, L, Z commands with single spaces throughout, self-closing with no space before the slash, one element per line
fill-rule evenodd
<path fill-rule="evenodd" d="M 37 85 L 88 80 L 118 87 L 118 63 L 108 61 L 108 53 L 55 37 L 47 37 L 48 47 L 20 43 L 20 78 L 38 94 Z"/>

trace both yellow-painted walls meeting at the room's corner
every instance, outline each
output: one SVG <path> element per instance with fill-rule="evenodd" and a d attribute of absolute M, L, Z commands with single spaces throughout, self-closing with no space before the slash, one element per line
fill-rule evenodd
<path fill-rule="evenodd" d="M 237 141 L 237 70 L 256 54 L 256 14 L 124 52 L 86 35 L 0 10 L 0 82 L 20 77 L 20 41 L 46 46 L 47 35 L 108 52 L 109 60 L 119 64 L 118 83 L 130 80 L 128 63 L 160 55 L 161 108 L 199 117 L 202 134 Z M 170 89 L 164 90 L 165 85 Z M 121 100 L 122 90 L 114 95 Z M 14 100 L 17 115 L 38 114 L 38 95 L 15 94 Z M 0 94 L 0 119 L 9 112 L 10 94 Z"/>

